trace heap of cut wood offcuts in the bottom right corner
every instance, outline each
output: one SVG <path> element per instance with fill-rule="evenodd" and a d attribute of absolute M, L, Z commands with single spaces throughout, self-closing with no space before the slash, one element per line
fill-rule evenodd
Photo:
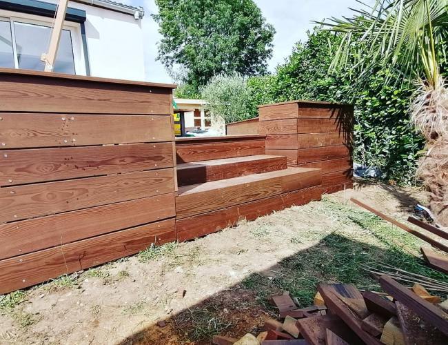
<path fill-rule="evenodd" d="M 448 344 L 448 302 L 421 285 L 407 288 L 388 275 L 384 293 L 352 284 L 319 284 L 314 306 L 298 308 L 289 293 L 272 297 L 279 319 L 267 319 L 258 335 L 215 336 L 216 345 Z"/>

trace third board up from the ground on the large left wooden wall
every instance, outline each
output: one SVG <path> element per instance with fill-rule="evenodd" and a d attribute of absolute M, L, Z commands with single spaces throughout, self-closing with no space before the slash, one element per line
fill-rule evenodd
<path fill-rule="evenodd" d="M 174 168 L 0 188 L 0 221 L 172 193 Z"/>

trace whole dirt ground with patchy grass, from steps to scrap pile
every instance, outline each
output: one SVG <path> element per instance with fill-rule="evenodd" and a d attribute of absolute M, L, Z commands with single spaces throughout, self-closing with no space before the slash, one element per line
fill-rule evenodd
<path fill-rule="evenodd" d="M 349 197 L 401 220 L 425 203 L 417 188 L 360 182 L 323 201 L 0 296 L 0 344 L 210 344 L 216 333 L 256 333 L 275 316 L 270 293 L 289 290 L 306 306 L 321 280 L 376 288 L 362 270 L 367 263 L 440 277 L 412 255 L 423 242 Z"/>

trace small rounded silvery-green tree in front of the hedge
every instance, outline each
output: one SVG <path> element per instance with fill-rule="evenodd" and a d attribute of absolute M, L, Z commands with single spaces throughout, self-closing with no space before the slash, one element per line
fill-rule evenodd
<path fill-rule="evenodd" d="M 216 75 L 201 89 L 212 116 L 222 117 L 225 123 L 249 119 L 250 90 L 245 78 L 238 74 Z"/>

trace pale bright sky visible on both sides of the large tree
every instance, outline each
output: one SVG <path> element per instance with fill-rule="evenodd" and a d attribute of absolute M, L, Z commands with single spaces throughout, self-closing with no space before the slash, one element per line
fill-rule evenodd
<path fill-rule="evenodd" d="M 156 61 L 157 42 L 161 39 L 159 26 L 151 14 L 157 12 L 154 0 L 121 0 L 132 6 L 142 6 L 145 17 L 142 20 L 145 47 L 145 79 L 161 83 L 171 83 L 172 79 L 160 61 Z M 268 61 L 269 71 L 274 71 L 279 63 L 288 57 L 294 44 L 306 41 L 307 30 L 314 26 L 312 21 L 323 21 L 329 17 L 351 16 L 349 8 L 360 8 L 356 0 L 254 0 L 261 8 L 263 16 L 276 29 L 274 51 Z M 367 0 L 374 3 L 374 0 Z"/>

